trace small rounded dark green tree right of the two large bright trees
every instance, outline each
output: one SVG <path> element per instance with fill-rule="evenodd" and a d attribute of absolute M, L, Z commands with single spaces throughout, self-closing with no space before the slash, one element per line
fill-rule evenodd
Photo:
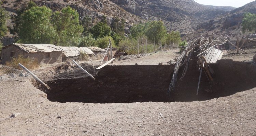
<path fill-rule="evenodd" d="M 110 36 L 111 28 L 106 23 L 98 22 L 91 29 L 94 38 Z"/>

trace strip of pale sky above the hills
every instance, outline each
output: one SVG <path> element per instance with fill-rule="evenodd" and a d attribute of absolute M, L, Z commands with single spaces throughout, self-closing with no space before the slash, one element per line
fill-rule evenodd
<path fill-rule="evenodd" d="M 204 5 L 241 7 L 255 0 L 194 0 L 194 1 Z"/>

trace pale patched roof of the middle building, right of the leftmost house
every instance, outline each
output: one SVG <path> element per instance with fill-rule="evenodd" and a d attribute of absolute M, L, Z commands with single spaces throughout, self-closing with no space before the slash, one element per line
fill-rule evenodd
<path fill-rule="evenodd" d="M 93 54 L 87 47 L 59 47 L 63 50 L 63 54 L 67 57 L 78 56 L 83 51 L 85 54 Z"/>

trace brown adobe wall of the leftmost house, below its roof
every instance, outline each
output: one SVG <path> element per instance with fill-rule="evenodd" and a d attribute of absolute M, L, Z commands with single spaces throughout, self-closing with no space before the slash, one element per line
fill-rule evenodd
<path fill-rule="evenodd" d="M 15 52 L 15 53 L 12 53 Z M 53 64 L 62 62 L 62 52 L 53 51 L 53 52 L 35 52 L 27 53 L 23 50 L 20 50 L 16 46 L 9 46 L 2 49 L 2 63 L 5 64 L 6 61 L 11 61 L 12 56 L 18 57 L 18 55 L 23 55 L 24 57 L 34 58 L 38 60 L 39 64 Z"/>

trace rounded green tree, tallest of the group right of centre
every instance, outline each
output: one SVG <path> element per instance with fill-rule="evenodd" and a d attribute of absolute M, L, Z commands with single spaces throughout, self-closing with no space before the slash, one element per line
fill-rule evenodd
<path fill-rule="evenodd" d="M 152 42 L 158 43 L 166 33 L 167 31 L 162 21 L 152 21 L 145 34 Z"/>

